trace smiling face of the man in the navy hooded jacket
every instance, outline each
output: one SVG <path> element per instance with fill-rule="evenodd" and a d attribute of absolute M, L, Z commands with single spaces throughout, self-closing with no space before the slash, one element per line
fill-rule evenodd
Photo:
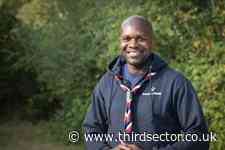
<path fill-rule="evenodd" d="M 141 66 L 149 56 L 152 48 L 149 26 L 137 18 L 122 24 L 120 47 L 121 54 L 128 65 Z"/>

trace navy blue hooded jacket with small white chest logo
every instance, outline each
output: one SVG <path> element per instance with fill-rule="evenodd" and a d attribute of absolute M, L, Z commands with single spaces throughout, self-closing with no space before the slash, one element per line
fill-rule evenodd
<path fill-rule="evenodd" d="M 170 68 L 158 55 L 152 53 L 147 70 L 152 77 L 135 94 L 135 133 L 207 133 L 202 109 L 196 93 L 181 73 Z M 96 85 L 92 102 L 83 122 L 85 133 L 113 133 L 124 130 L 126 92 L 115 75 L 121 75 L 125 61 L 118 56 Z M 119 141 L 86 141 L 88 150 L 107 150 Z M 143 150 L 208 150 L 208 142 L 194 141 L 136 141 Z"/>

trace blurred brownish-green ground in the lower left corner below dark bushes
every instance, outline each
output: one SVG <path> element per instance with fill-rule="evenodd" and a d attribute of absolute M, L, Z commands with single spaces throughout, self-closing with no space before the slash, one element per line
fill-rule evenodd
<path fill-rule="evenodd" d="M 43 124 L 44 125 L 44 124 Z M 0 125 L 0 150 L 83 150 L 82 146 L 53 142 L 43 126 L 29 122 Z"/>

